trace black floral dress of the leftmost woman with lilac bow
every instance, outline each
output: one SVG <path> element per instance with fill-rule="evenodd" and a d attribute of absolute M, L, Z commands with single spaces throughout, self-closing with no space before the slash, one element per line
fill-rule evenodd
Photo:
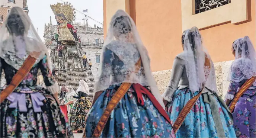
<path fill-rule="evenodd" d="M 9 85 L 17 70 L 1 58 L 1 70 L 2 68 L 5 73 L 6 85 Z M 25 105 L 9 107 L 13 102 L 8 98 L 1 103 L 1 137 L 73 137 L 71 128 L 52 93 L 36 85 L 39 68 L 44 76 L 45 85 L 52 86 L 55 84 L 48 66 L 47 55 L 45 55 L 44 59 L 33 66 L 24 80 L 13 91 L 13 93 L 25 94 Z M 43 103 L 40 112 L 33 108 L 35 106 L 33 105 L 33 95 L 36 93 L 45 97 L 44 100 L 40 101 Z M 27 111 L 22 112 L 20 106 L 25 107 Z"/>

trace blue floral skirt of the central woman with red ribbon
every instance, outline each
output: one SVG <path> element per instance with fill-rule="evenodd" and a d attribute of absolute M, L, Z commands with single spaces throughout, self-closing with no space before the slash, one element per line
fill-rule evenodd
<path fill-rule="evenodd" d="M 92 137 L 106 106 L 119 86 L 110 86 L 98 97 L 86 120 L 86 137 Z M 153 103 L 143 95 L 144 105 L 137 102 L 131 87 L 119 101 L 100 137 L 175 137 L 172 126 L 160 115 Z"/>

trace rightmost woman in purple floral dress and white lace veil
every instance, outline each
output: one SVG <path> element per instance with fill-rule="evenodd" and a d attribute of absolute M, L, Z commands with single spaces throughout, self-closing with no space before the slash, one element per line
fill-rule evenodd
<path fill-rule="evenodd" d="M 230 85 L 225 102 L 232 112 L 237 137 L 255 138 L 255 49 L 248 36 L 233 42 L 232 52 L 235 60 L 230 67 L 228 81 Z M 254 77 L 252 84 L 241 93 L 242 86 Z M 240 90 L 241 89 L 241 90 Z M 240 95 L 241 93 L 241 95 Z M 240 95 L 240 97 L 237 97 Z M 234 98 L 237 97 L 237 98 Z M 235 102 L 235 100 L 238 100 Z M 234 106 L 231 108 L 231 106 Z"/>

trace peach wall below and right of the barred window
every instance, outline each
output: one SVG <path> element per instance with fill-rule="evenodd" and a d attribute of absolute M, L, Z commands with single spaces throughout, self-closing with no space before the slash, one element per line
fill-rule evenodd
<path fill-rule="evenodd" d="M 248 35 L 255 46 L 255 0 L 248 2 L 248 20 L 237 25 L 230 22 L 201 30 L 203 42 L 213 62 L 233 60 L 231 46 L 235 39 Z"/>

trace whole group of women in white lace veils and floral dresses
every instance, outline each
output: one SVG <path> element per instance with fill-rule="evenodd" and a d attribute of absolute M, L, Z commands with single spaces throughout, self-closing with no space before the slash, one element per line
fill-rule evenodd
<path fill-rule="evenodd" d="M 76 91 L 62 86 L 65 116 L 47 48 L 28 15 L 13 7 L 1 28 L 0 63 L 7 85 L 1 90 L 0 136 L 73 137 L 74 131 L 84 130 L 83 137 L 256 137 L 256 55 L 249 37 L 231 46 L 235 58 L 224 101 L 198 28 L 184 31 L 181 40 L 183 52 L 161 96 L 135 23 L 118 10 L 102 48 L 93 102 L 86 98 L 84 80 Z M 36 85 L 39 68 L 46 89 Z"/>

